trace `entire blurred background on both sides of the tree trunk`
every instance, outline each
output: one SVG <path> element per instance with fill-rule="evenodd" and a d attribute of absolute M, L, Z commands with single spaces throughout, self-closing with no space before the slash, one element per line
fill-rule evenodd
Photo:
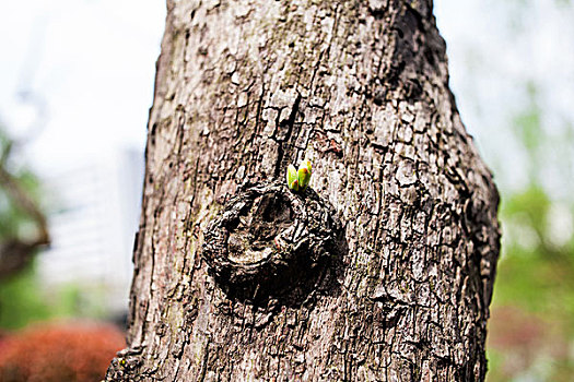
<path fill-rule="evenodd" d="M 435 0 L 435 15 L 460 115 L 502 196 L 488 379 L 570 381 L 574 5 Z M 163 0 L 0 3 L 4 375 L 20 362 L 44 381 L 98 380 L 124 346 L 164 19 Z"/>

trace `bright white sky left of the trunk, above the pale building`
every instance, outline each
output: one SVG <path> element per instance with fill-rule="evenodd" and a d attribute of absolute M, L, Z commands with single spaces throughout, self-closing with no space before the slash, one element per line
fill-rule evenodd
<path fill-rule="evenodd" d="M 67 168 L 121 146 L 143 151 L 164 20 L 163 1 L 0 4 L 0 118 L 19 136 L 38 106 L 46 110 L 26 150 L 34 167 Z M 23 91 L 35 99 L 22 102 Z"/>

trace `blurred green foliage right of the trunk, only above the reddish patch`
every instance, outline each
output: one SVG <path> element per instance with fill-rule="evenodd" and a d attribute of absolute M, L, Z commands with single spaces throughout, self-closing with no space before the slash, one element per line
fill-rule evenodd
<path fill-rule="evenodd" d="M 528 89 L 530 95 L 536 94 L 531 84 Z M 552 310 L 557 297 L 563 302 L 574 300 L 574 199 L 557 200 L 543 182 L 542 172 L 549 163 L 542 164 L 540 158 L 557 147 L 548 145 L 540 112 L 531 99 L 514 120 L 516 136 L 526 153 L 528 183 L 523 190 L 502 190 L 504 246 L 495 302 L 518 303 L 532 312 L 564 313 L 574 325 L 574 305 L 561 303 L 559 310 Z M 567 136 L 562 139 L 564 145 L 572 143 Z M 557 236 L 563 238 L 557 240 Z"/>

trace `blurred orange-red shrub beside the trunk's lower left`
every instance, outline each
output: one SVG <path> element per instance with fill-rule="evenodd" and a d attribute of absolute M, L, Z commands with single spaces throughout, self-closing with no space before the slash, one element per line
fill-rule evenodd
<path fill-rule="evenodd" d="M 0 382 L 101 381 L 125 346 L 116 327 L 85 323 L 36 326 L 0 342 Z"/>

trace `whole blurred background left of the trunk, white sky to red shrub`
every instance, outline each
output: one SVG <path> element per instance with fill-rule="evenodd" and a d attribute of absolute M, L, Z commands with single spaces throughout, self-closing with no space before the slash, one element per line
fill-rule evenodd
<path fill-rule="evenodd" d="M 164 24 L 163 0 L 0 2 L 1 382 L 99 381 L 125 347 Z"/>

